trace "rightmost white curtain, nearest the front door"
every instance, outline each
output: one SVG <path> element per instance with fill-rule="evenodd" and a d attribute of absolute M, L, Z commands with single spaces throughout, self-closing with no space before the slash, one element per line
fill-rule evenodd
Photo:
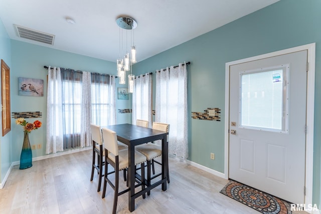
<path fill-rule="evenodd" d="M 169 153 L 188 157 L 186 64 L 156 71 L 155 121 L 170 124 Z"/>

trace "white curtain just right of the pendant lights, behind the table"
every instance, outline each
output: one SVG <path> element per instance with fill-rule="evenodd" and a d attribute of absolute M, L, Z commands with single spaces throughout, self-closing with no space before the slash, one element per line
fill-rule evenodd
<path fill-rule="evenodd" d="M 151 75 L 146 73 L 135 78 L 132 93 L 132 123 L 136 119 L 147 120 L 151 127 Z"/>

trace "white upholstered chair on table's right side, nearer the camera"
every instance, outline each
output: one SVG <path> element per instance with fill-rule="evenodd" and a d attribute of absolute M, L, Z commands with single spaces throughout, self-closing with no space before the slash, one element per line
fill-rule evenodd
<path fill-rule="evenodd" d="M 167 123 L 159 123 L 159 122 L 153 122 L 152 123 L 152 128 L 161 130 L 161 131 L 170 131 L 170 124 Z M 142 153 L 143 155 L 146 156 L 147 159 L 147 183 L 150 185 L 150 180 L 153 179 L 156 176 L 159 176 L 161 174 L 157 174 L 153 177 L 150 176 L 150 167 L 153 162 L 162 164 L 161 162 L 158 162 L 154 160 L 156 157 L 159 157 L 162 155 L 162 146 L 156 145 L 154 143 L 146 143 L 146 144 L 141 144 L 135 147 L 137 151 Z M 167 160 L 167 164 L 168 164 Z M 153 168 L 153 174 L 155 174 L 154 168 Z M 167 165 L 167 182 L 170 182 L 170 171 L 169 171 L 169 165 Z M 148 192 L 149 194 L 149 192 Z"/>

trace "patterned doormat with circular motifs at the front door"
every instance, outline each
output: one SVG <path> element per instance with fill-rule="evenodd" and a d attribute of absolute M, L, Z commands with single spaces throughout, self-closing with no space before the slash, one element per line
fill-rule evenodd
<path fill-rule="evenodd" d="M 291 202 L 234 180 L 230 180 L 220 192 L 264 214 L 292 213 Z"/>

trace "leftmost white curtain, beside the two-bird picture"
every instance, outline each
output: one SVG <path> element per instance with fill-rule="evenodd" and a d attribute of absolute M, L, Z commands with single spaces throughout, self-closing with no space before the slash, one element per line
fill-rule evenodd
<path fill-rule="evenodd" d="M 48 68 L 46 154 L 63 151 L 62 81 L 60 68 Z"/>

